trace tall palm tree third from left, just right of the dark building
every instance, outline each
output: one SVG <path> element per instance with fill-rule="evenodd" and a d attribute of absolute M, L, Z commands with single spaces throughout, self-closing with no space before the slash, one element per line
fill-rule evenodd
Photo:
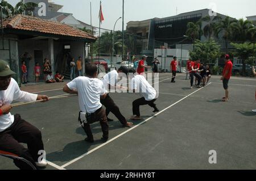
<path fill-rule="evenodd" d="M 231 19 L 229 16 L 226 16 L 225 19 L 221 19 L 217 23 L 215 28 L 215 35 L 218 37 L 220 32 L 223 33 L 222 38 L 225 40 L 226 53 L 228 53 L 228 41 L 232 40 L 233 26 L 236 22 L 236 19 Z"/>

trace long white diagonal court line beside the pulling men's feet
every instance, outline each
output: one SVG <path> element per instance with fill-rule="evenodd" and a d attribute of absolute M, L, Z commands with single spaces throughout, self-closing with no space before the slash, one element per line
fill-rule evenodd
<path fill-rule="evenodd" d="M 211 83 L 209 83 L 209 85 L 210 85 L 210 84 L 211 84 Z M 118 134 L 117 136 L 113 137 L 111 140 L 105 142 L 104 144 L 101 144 L 100 146 L 97 146 L 96 148 L 94 148 L 94 149 L 92 149 L 92 150 L 86 152 L 85 154 L 82 154 L 80 157 L 77 157 L 77 158 L 73 159 L 72 161 L 70 161 L 70 162 L 68 162 L 68 163 L 65 163 L 63 166 L 61 166 L 61 168 L 67 167 L 67 166 L 71 165 L 72 163 L 75 163 L 76 161 L 79 161 L 79 159 L 84 158 L 86 155 L 88 155 L 88 154 L 90 154 L 90 153 L 93 153 L 94 151 L 100 149 L 102 146 L 105 146 L 105 145 L 109 144 L 110 142 L 112 142 L 112 141 L 116 140 L 117 138 L 121 137 L 123 134 L 126 134 L 126 133 L 132 131 L 133 129 L 139 127 L 140 125 L 146 123 L 147 121 L 151 120 L 153 117 L 155 117 L 155 116 L 159 115 L 160 113 L 162 113 L 162 112 L 168 110 L 169 108 L 175 106 L 177 103 L 179 103 L 179 102 L 181 102 L 182 100 L 188 98 L 188 97 L 191 96 L 192 94 L 195 94 L 197 91 L 200 91 L 200 90 L 203 89 L 203 88 L 204 88 L 204 87 L 202 87 L 202 88 L 200 88 L 200 89 L 198 89 L 198 90 L 192 92 L 191 94 L 189 94 L 189 95 L 185 96 L 184 98 L 178 100 L 176 103 L 172 104 L 171 106 L 168 106 L 168 107 L 165 108 L 164 110 L 162 110 L 162 111 L 156 113 L 154 116 L 148 117 L 148 119 L 142 121 L 141 123 L 139 123 L 139 124 L 135 125 L 134 127 L 128 129 L 127 131 L 122 132 L 121 134 Z"/>

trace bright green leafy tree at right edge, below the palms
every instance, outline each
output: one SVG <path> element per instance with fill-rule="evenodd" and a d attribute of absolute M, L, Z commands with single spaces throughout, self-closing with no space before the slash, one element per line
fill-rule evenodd
<path fill-rule="evenodd" d="M 246 60 L 255 53 L 255 48 L 249 42 L 242 44 L 231 43 L 231 45 L 236 48 L 236 54 L 242 60 L 242 75 L 245 75 Z"/>

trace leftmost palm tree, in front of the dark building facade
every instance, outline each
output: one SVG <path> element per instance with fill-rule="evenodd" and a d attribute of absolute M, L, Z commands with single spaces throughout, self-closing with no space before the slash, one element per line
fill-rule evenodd
<path fill-rule="evenodd" d="M 187 31 L 186 35 L 192 40 L 193 42 L 193 50 L 195 50 L 195 41 L 199 39 L 203 31 L 201 30 L 201 22 L 189 22 L 187 24 Z"/>

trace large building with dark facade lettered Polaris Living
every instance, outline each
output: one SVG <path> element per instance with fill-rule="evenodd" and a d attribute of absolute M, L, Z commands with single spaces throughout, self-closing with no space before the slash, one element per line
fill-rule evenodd
<path fill-rule="evenodd" d="M 168 48 L 177 49 L 192 49 L 192 40 L 184 37 L 187 31 L 188 22 L 197 22 L 209 14 L 213 14 L 209 9 L 191 11 L 181 13 L 176 16 L 170 16 L 167 18 L 153 18 L 137 22 L 127 23 L 127 32 L 132 33 L 137 39 L 142 40 L 138 50 L 141 50 L 142 54 L 148 54 L 152 56 L 154 54 L 154 49 L 162 47 L 167 44 Z M 217 16 L 225 18 L 225 15 L 216 12 Z M 207 22 L 202 22 L 202 30 Z M 201 41 L 207 40 L 204 35 L 200 37 Z M 224 48 L 224 42 L 221 39 L 216 39 Z"/>

